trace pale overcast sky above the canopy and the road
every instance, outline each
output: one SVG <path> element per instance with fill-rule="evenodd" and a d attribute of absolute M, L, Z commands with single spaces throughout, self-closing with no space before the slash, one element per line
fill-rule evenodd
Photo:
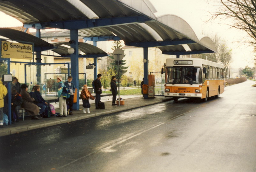
<path fill-rule="evenodd" d="M 247 35 L 240 30 L 231 29 L 229 26 L 220 24 L 229 21 L 210 21 L 210 12 L 216 12 L 220 6 L 216 1 L 219 0 L 150 0 L 155 6 L 156 15 L 175 14 L 183 18 L 194 30 L 195 34 L 201 39 L 204 36 L 213 36 L 217 34 L 221 37 L 222 42 L 226 42 L 230 49 L 233 50 L 233 68 L 245 68 L 246 65 L 254 65 L 253 47 L 243 43 L 243 38 Z M 18 20 L 0 12 L 0 27 L 22 26 Z M 239 43 L 236 43 L 239 42 Z"/>

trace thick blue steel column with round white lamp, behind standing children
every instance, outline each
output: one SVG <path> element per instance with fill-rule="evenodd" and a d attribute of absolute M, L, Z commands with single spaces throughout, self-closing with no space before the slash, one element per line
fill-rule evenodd
<path fill-rule="evenodd" d="M 70 54 L 70 62 L 71 62 L 71 76 L 72 82 L 74 83 L 77 91 L 79 91 L 79 77 L 78 77 L 78 29 L 70 30 L 70 40 L 73 43 L 70 44 L 71 48 L 75 49 L 73 54 Z M 77 103 L 73 104 L 74 110 L 79 110 L 79 95 L 77 94 Z"/>

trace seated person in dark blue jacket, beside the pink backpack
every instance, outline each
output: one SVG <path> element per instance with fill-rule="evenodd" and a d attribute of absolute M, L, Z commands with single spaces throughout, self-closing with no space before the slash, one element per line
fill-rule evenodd
<path fill-rule="evenodd" d="M 40 86 L 34 87 L 34 93 L 33 93 L 34 103 L 40 107 L 40 116 L 42 117 L 48 117 L 48 103 L 44 100 L 44 98 L 40 94 Z"/>

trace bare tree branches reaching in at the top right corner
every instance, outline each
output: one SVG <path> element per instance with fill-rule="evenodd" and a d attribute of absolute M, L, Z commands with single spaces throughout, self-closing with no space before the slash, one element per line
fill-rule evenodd
<path fill-rule="evenodd" d="M 233 28 L 244 30 L 256 43 L 256 1 L 255 0 L 220 0 L 224 8 L 221 12 L 213 14 L 213 18 L 223 17 L 233 19 Z"/>

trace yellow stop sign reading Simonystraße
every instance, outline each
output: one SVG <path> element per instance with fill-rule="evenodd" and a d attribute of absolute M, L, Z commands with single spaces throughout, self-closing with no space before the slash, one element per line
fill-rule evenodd
<path fill-rule="evenodd" d="M 2 58 L 33 59 L 33 45 L 2 41 Z"/>

